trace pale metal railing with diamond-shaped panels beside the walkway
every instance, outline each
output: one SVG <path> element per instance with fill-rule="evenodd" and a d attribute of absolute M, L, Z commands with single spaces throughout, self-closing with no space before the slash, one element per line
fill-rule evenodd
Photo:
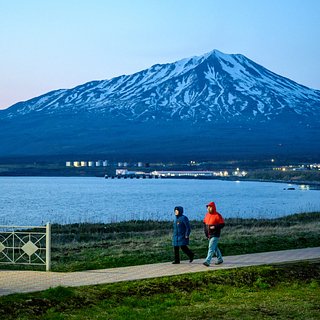
<path fill-rule="evenodd" d="M 51 269 L 51 225 L 0 226 L 0 264 L 45 265 Z"/>

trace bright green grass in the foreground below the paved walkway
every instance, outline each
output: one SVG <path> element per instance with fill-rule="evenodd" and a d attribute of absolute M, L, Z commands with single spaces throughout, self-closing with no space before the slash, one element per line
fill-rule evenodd
<path fill-rule="evenodd" d="M 1 319 L 319 319 L 320 262 L 0 297 Z"/>

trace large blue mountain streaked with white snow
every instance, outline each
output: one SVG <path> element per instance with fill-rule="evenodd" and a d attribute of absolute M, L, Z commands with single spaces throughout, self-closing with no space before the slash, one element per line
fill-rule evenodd
<path fill-rule="evenodd" d="M 0 121 L 0 155 L 317 155 L 320 91 L 214 50 L 52 91 Z"/>

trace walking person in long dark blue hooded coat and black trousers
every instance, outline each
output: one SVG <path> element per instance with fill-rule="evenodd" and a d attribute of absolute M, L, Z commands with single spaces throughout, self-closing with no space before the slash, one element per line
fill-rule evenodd
<path fill-rule="evenodd" d="M 183 215 L 182 207 L 174 208 L 175 219 L 173 222 L 173 237 L 172 245 L 174 248 L 174 261 L 173 264 L 180 263 L 179 248 L 189 257 L 189 261 L 192 262 L 194 253 L 188 248 L 189 236 L 191 232 L 189 219 Z"/>

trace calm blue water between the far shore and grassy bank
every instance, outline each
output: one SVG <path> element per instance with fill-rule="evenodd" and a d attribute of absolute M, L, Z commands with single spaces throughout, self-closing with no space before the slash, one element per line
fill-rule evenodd
<path fill-rule="evenodd" d="M 320 211 L 319 190 L 271 182 L 0 177 L 0 186 L 0 225 L 171 220 L 178 205 L 189 219 L 203 219 L 210 201 L 224 217 Z"/>

